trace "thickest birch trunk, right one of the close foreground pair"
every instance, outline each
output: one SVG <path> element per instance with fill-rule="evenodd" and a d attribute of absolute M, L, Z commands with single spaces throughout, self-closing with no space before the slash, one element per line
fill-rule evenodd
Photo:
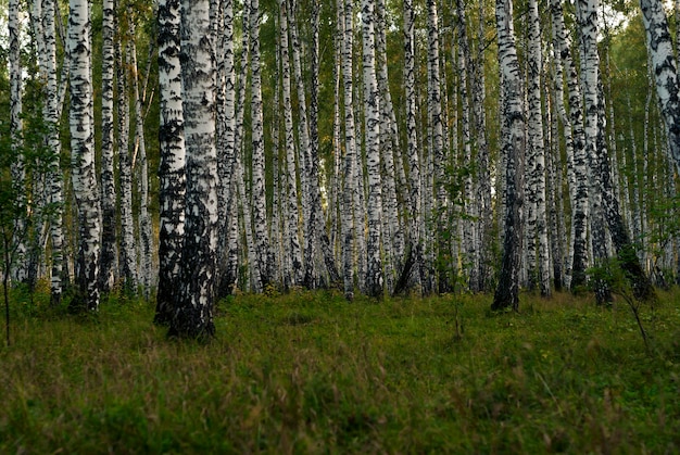
<path fill-rule="evenodd" d="M 186 147 L 185 238 L 180 289 L 168 334 L 212 337 L 217 273 L 215 68 L 207 0 L 181 3 L 181 83 Z"/>

